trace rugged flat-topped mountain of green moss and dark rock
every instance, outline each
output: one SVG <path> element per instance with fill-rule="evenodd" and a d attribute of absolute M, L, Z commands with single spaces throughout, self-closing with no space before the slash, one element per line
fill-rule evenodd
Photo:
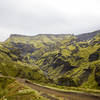
<path fill-rule="evenodd" d="M 21 64 L 21 70 L 31 73 L 28 76 L 25 74 L 26 78 L 32 79 L 34 72 L 31 68 L 34 69 L 34 66 L 38 66 L 37 68 L 55 84 L 100 88 L 100 31 L 81 35 L 23 36 L 13 34 L 4 43 L 1 43 L 1 47 L 3 48 L 0 51 L 1 62 L 3 62 L 2 73 L 5 71 L 2 71 L 3 68 L 9 69 L 16 64 Z M 7 57 L 5 58 L 5 56 Z M 8 63 L 2 59 L 10 61 L 11 65 L 7 68 L 3 67 Z M 24 66 L 25 64 L 27 67 Z M 13 71 L 17 67 L 13 68 L 15 69 L 10 71 L 12 71 L 11 75 L 15 76 Z M 44 77 L 40 71 L 38 75 Z M 23 76 L 21 72 L 17 74 Z"/>

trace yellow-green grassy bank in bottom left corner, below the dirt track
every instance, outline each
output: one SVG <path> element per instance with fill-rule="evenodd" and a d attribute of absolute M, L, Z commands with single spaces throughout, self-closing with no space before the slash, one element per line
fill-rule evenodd
<path fill-rule="evenodd" d="M 0 100 L 47 100 L 13 78 L 0 77 Z"/>

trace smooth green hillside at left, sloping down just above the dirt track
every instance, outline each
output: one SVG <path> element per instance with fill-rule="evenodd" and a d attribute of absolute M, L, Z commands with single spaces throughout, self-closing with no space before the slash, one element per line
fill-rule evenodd
<path fill-rule="evenodd" d="M 19 52 L 13 49 L 16 53 Z M 31 80 L 44 81 L 43 71 L 36 65 L 22 61 L 20 55 L 14 55 L 12 48 L 0 44 L 0 73 L 5 76 L 28 78 Z"/>

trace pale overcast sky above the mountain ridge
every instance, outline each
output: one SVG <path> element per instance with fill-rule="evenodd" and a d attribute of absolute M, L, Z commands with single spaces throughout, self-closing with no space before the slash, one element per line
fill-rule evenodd
<path fill-rule="evenodd" d="M 100 0 L 0 0 L 0 41 L 10 34 L 79 34 L 99 29 Z"/>

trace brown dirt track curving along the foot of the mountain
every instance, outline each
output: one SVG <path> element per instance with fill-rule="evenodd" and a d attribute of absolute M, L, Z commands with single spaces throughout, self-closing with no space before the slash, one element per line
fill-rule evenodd
<path fill-rule="evenodd" d="M 30 83 L 29 81 L 25 81 L 25 79 L 17 79 L 20 83 L 23 83 L 32 89 L 35 89 L 40 92 L 44 92 L 46 94 L 53 94 L 55 96 L 66 98 L 64 100 L 100 100 L 100 96 L 94 96 L 87 93 L 76 93 L 76 92 L 63 92 L 47 87 L 43 87 L 34 83 Z"/>

